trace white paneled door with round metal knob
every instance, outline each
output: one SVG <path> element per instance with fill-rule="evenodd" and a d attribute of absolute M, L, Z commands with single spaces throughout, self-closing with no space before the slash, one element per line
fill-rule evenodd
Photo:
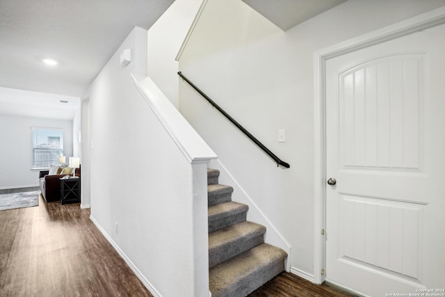
<path fill-rule="evenodd" d="M 327 60 L 326 117 L 326 279 L 445 296 L 445 25 Z"/>

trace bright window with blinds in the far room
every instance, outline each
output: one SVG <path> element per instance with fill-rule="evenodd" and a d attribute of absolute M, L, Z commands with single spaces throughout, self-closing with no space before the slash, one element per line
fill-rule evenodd
<path fill-rule="evenodd" d="M 58 164 L 63 155 L 63 130 L 33 128 L 33 168 Z"/>

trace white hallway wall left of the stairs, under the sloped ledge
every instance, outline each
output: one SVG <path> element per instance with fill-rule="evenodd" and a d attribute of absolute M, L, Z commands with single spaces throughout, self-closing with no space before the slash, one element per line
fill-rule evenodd
<path fill-rule="evenodd" d="M 195 195 L 206 164 L 185 158 L 138 93 L 130 73 L 146 66 L 135 28 L 90 85 L 91 218 L 155 296 L 208 296 L 207 201 Z"/>

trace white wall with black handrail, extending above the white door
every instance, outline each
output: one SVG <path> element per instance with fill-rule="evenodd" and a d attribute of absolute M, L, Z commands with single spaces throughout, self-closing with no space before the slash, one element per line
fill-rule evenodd
<path fill-rule="evenodd" d="M 181 72 L 291 168 L 277 168 L 185 83 L 180 111 L 227 168 L 223 179 L 232 175 L 291 244 L 294 273 L 314 275 L 314 51 L 444 5 L 350 0 L 282 32 L 242 1 L 207 3 Z"/>

